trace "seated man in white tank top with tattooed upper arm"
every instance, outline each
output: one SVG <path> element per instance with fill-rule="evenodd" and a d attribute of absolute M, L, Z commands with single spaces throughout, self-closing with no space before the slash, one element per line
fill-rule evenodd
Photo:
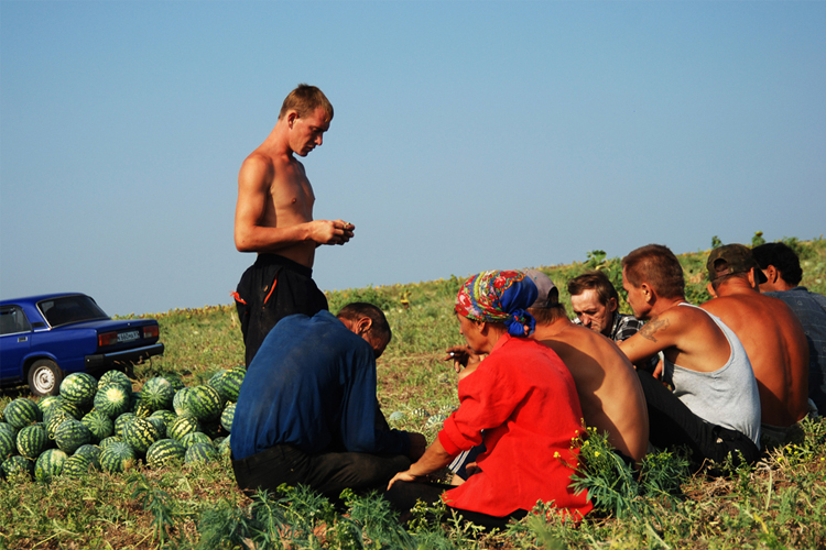
<path fill-rule="evenodd" d="M 660 448 L 687 446 L 700 466 L 729 454 L 754 462 L 760 454 L 760 396 L 749 358 L 722 321 L 685 301 L 683 267 L 665 246 L 649 244 L 622 258 L 622 286 L 638 319 L 648 320 L 620 342 L 633 363 L 663 352 L 663 370 L 638 371 L 649 410 L 650 440 Z"/>

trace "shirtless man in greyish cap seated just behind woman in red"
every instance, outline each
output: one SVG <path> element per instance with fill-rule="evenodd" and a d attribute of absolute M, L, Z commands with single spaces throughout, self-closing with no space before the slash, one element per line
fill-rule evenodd
<path fill-rule="evenodd" d="M 539 289 L 528 308 L 536 320 L 531 338 L 554 350 L 570 371 L 586 426 L 608 433 L 608 442 L 639 465 L 649 444 L 649 415 L 633 365 L 616 343 L 568 320 L 547 275 L 536 270 L 525 275 Z"/>

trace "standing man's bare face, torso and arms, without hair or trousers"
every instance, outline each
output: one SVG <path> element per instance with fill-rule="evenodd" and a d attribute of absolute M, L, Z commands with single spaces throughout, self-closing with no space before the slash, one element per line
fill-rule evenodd
<path fill-rule="evenodd" d="M 238 174 L 235 241 L 240 252 L 273 253 L 312 267 L 320 244 L 344 244 L 355 226 L 313 220 L 315 195 L 304 166 L 322 144 L 329 119 L 322 108 L 308 117 L 289 111 L 267 140 L 244 160 Z"/>

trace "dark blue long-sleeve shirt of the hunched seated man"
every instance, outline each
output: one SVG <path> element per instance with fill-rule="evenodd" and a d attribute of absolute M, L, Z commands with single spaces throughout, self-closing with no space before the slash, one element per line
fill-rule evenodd
<path fill-rule="evenodd" d="M 247 370 L 230 444 L 235 460 L 279 443 L 309 454 L 405 454 L 405 432 L 376 428 L 372 348 L 329 311 L 285 317 Z"/>

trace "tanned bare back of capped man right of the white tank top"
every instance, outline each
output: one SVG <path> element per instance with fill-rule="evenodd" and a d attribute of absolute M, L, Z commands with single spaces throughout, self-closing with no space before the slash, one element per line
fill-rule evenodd
<path fill-rule="evenodd" d="M 730 279 L 703 309 L 725 322 L 751 361 L 762 422 L 787 427 L 808 410 L 808 343 L 796 316 L 778 298 Z"/>

